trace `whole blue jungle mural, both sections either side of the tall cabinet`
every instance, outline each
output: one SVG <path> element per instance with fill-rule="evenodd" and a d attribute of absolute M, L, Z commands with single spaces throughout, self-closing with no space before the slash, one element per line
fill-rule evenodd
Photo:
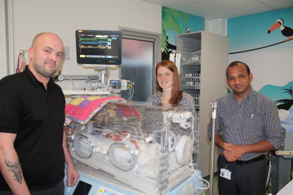
<path fill-rule="evenodd" d="M 229 61 L 250 66 L 252 87 L 279 109 L 292 105 L 293 8 L 228 19 Z M 205 29 L 205 19 L 162 7 L 162 59 L 176 53 L 176 36 Z"/>

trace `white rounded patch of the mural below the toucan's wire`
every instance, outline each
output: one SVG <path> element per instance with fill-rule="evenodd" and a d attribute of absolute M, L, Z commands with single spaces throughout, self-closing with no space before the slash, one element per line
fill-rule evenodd
<path fill-rule="evenodd" d="M 252 88 L 261 90 L 265 85 L 284 86 L 292 81 L 292 50 L 283 49 L 285 44 L 251 52 L 230 54 L 229 62 L 244 61 L 253 75 Z M 272 92 L 273 93 L 273 92 Z"/>

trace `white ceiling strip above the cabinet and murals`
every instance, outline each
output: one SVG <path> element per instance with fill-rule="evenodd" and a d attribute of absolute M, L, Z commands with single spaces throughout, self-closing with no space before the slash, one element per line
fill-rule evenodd
<path fill-rule="evenodd" d="M 234 18 L 292 8 L 293 0 L 141 0 L 205 19 Z M 293 13 L 292 13 L 293 14 Z"/>

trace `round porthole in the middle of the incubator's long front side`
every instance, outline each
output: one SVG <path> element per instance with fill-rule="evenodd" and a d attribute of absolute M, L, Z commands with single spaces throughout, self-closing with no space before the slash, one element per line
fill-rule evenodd
<path fill-rule="evenodd" d="M 137 163 L 135 147 L 128 141 L 112 143 L 108 150 L 108 156 L 112 165 L 124 172 L 132 170 Z"/>

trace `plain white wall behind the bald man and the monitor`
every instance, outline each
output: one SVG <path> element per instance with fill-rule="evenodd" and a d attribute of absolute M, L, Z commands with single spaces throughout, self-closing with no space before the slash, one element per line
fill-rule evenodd
<path fill-rule="evenodd" d="M 13 19 L 14 59 L 19 50 L 28 50 L 36 34 L 54 32 L 69 49 L 70 59 L 63 61 L 61 71 L 70 75 L 96 74 L 77 64 L 77 29 L 119 30 L 122 26 L 161 33 L 161 6 L 137 0 L 13 0 Z"/>

